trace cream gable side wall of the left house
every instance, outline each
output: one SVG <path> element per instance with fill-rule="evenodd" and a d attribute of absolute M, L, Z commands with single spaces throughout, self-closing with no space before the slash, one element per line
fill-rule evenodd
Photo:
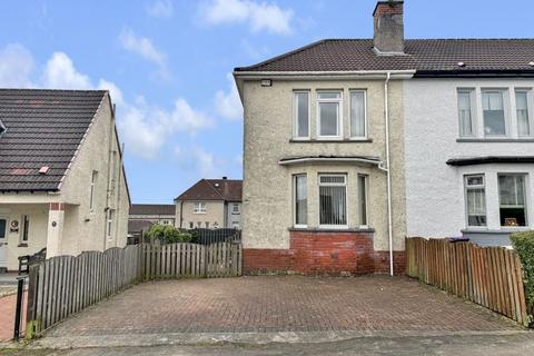
<path fill-rule="evenodd" d="M 91 210 L 90 186 L 95 170 L 97 180 Z M 120 167 L 119 141 L 108 97 L 100 103 L 86 139 L 61 185 L 61 200 L 67 202 L 61 254 L 77 255 L 85 250 L 126 246 L 130 201 Z M 106 229 L 107 202 L 109 208 L 115 210 L 110 238 Z"/>

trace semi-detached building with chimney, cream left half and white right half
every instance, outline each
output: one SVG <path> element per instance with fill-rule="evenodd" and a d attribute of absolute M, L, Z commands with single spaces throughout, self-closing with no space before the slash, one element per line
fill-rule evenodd
<path fill-rule="evenodd" d="M 398 0 L 373 19 L 235 69 L 245 271 L 402 273 L 406 235 L 533 227 L 534 40 L 405 39 Z"/>

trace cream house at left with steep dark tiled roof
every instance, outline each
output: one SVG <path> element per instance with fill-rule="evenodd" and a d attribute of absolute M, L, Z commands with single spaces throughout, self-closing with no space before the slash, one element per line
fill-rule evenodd
<path fill-rule="evenodd" d="M 130 197 L 105 90 L 0 89 L 0 268 L 126 245 Z"/>

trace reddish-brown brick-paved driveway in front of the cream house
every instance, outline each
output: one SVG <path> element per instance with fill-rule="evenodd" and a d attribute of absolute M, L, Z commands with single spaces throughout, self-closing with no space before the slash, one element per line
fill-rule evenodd
<path fill-rule="evenodd" d="M 135 286 L 50 329 L 51 336 L 517 328 L 404 277 L 241 277 Z"/>

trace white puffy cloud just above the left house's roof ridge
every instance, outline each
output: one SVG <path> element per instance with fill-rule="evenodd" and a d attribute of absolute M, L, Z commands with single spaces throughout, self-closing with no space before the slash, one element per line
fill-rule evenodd
<path fill-rule="evenodd" d="M 53 89 L 91 89 L 88 76 L 76 70 L 72 60 L 63 52 L 55 52 L 44 66 L 42 85 Z"/>

